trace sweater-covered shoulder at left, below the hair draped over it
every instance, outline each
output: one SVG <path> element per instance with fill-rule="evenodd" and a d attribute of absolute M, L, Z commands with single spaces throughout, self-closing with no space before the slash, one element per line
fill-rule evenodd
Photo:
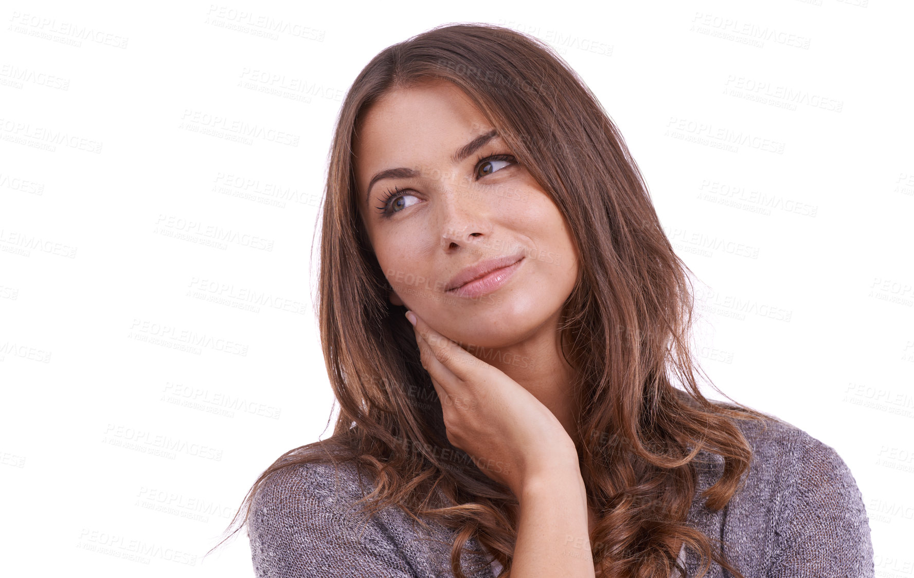
<path fill-rule="evenodd" d="M 359 500 L 375 489 L 352 461 L 277 470 L 251 498 L 251 558 L 257 576 L 450 575 L 453 536 L 416 525 L 386 506 L 372 515 Z"/>

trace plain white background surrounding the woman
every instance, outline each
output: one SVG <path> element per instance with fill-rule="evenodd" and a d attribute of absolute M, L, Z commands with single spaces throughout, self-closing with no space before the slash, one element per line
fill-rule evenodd
<path fill-rule="evenodd" d="M 589 84 L 705 284 L 707 373 L 834 447 L 877 575 L 914 568 L 908 3 L 79 4 L 0 13 L 9 575 L 252 574 L 242 533 L 202 555 L 264 468 L 330 435 L 310 279 L 342 97 L 382 48 L 468 21 Z"/>

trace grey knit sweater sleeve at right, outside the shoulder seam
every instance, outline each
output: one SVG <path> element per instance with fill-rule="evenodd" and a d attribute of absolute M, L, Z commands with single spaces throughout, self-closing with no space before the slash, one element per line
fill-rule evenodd
<path fill-rule="evenodd" d="M 872 578 L 863 497 L 834 448 L 801 435 L 781 497 L 769 578 Z"/>

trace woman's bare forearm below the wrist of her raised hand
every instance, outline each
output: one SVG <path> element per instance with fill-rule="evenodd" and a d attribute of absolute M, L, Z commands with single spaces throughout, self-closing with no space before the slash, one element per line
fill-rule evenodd
<path fill-rule="evenodd" d="M 587 492 L 580 470 L 531 481 L 519 501 L 512 578 L 593 578 Z"/>

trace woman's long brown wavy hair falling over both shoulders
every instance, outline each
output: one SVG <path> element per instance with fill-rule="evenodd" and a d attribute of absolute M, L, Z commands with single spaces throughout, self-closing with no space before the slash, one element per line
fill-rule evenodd
<path fill-rule="evenodd" d="M 723 457 L 721 478 L 702 494 L 708 509 L 719 510 L 741 487 L 752 457 L 735 420 L 772 416 L 699 391 L 696 373 L 704 372 L 689 342 L 691 271 L 664 235 L 600 102 L 545 43 L 488 24 L 442 25 L 388 47 L 348 91 L 324 192 L 316 299 L 339 416 L 333 436 L 286 452 L 260 474 L 229 528 L 241 510 L 247 522 L 257 490 L 280 470 L 350 460 L 377 481 L 360 501 L 365 511 L 394 506 L 455 531 L 455 576 L 465 578 L 461 553 L 473 537 L 501 562 L 503 576 L 510 573 L 517 499 L 448 441 L 405 308 L 388 300 L 391 286 L 356 208 L 359 122 L 388 91 L 429 80 L 452 82 L 472 99 L 551 195 L 579 248 L 582 272 L 563 306 L 560 333 L 583 408 L 579 458 L 598 512 L 590 535 L 597 574 L 685 572 L 676 564 L 685 544 L 700 558 L 700 576 L 713 558 L 742 578 L 712 548 L 719 541 L 686 523 L 696 456 L 705 450 Z"/>

